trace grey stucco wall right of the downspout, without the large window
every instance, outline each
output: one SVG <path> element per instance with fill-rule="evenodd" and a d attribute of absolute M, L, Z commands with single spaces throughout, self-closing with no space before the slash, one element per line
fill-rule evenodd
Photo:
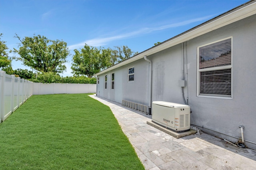
<path fill-rule="evenodd" d="M 256 143 L 255 29 L 254 15 L 187 41 L 188 85 L 184 93 L 192 111 L 190 123 L 232 142 L 237 138 L 231 136 L 241 137 L 239 125 L 244 125 L 244 139 Z M 232 37 L 232 98 L 197 96 L 197 47 L 228 37 Z M 182 45 L 148 58 L 153 63 L 152 101 L 184 104 L 178 86 L 178 80 L 182 80 Z M 256 148 L 253 143 L 247 142 L 246 145 Z"/>

